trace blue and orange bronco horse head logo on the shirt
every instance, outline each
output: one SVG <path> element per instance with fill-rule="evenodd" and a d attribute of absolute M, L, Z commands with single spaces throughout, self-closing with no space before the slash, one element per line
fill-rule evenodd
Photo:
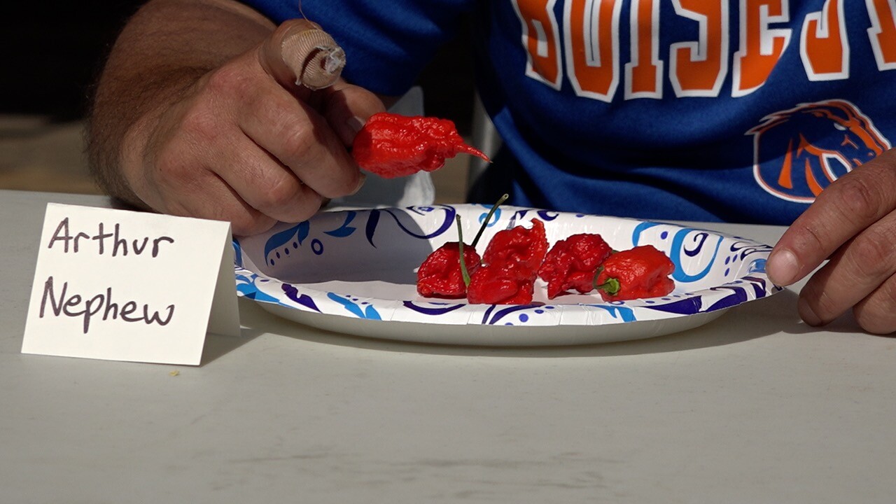
<path fill-rule="evenodd" d="M 746 135 L 754 135 L 756 182 L 774 196 L 802 203 L 890 148 L 871 119 L 846 100 L 775 112 Z"/>

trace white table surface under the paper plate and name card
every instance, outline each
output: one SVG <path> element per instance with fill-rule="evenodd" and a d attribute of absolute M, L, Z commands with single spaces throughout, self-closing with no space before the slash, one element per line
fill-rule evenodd
<path fill-rule="evenodd" d="M 50 201 L 108 205 L 0 191 L 0 502 L 896 500 L 896 340 L 805 326 L 794 290 L 575 348 L 375 341 L 240 300 L 200 367 L 22 355 Z"/>

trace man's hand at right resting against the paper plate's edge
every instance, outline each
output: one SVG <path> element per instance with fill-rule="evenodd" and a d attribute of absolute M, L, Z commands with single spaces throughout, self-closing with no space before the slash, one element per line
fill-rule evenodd
<path fill-rule="evenodd" d="M 869 333 L 896 331 L 896 150 L 823 190 L 769 257 L 772 282 L 789 285 L 830 259 L 799 295 L 799 315 L 820 326 L 852 308 Z"/>

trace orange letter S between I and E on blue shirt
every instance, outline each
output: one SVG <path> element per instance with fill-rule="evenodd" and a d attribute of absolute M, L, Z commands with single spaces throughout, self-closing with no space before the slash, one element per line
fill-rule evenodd
<path fill-rule="evenodd" d="M 673 0 L 676 13 L 700 23 L 696 41 L 669 49 L 676 96 L 719 96 L 728 74 L 728 0 Z"/>

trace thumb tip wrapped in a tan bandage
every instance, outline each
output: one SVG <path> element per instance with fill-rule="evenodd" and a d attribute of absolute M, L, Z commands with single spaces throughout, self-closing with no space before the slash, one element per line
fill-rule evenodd
<path fill-rule="evenodd" d="M 326 88 L 345 66 L 345 51 L 336 40 L 304 19 L 281 23 L 259 48 L 258 57 L 264 71 L 289 90 Z"/>

